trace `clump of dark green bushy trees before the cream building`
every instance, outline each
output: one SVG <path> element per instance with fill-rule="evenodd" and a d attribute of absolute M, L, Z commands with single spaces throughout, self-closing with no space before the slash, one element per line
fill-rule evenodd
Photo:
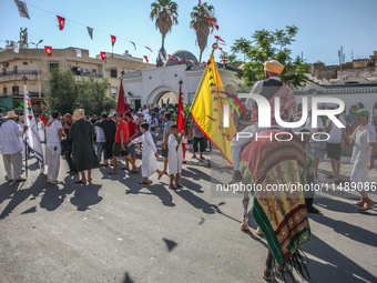
<path fill-rule="evenodd" d="M 71 70 L 54 68 L 50 73 L 49 85 L 45 101 L 50 112 L 57 110 L 65 114 L 82 108 L 86 114 L 99 115 L 116 107 L 116 101 L 106 95 L 110 89 L 108 80 L 89 78 L 77 81 Z"/>

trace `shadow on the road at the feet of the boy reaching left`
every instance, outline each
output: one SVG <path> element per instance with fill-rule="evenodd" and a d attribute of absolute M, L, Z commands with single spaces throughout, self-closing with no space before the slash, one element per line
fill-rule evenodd
<path fill-rule="evenodd" d="M 129 185 L 129 190 L 125 191 L 125 194 L 151 194 L 157 196 L 163 205 L 175 206 L 175 203 L 173 203 L 173 195 L 165 186 L 167 186 L 165 183 Z M 142 189 L 147 189 L 150 192 L 141 192 Z"/>

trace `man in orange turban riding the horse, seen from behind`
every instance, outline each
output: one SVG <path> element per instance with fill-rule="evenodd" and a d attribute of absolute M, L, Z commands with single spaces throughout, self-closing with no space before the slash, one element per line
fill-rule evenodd
<path fill-rule="evenodd" d="M 283 120 L 286 120 L 293 114 L 293 111 L 296 109 L 296 99 L 293 91 L 279 79 L 279 74 L 283 72 L 284 65 L 281 64 L 276 60 L 267 61 L 264 64 L 265 71 L 265 80 L 257 81 L 252 92 L 253 94 L 261 94 L 265 99 L 268 100 L 271 105 L 271 125 L 272 128 L 281 128 L 276 120 L 275 120 L 275 98 L 278 97 L 281 100 L 281 117 Z M 232 140 L 231 145 L 231 153 L 233 160 L 233 168 L 234 168 L 234 176 L 233 181 L 242 181 L 242 174 L 240 172 L 240 162 L 241 162 L 241 154 L 242 149 L 244 145 L 249 143 L 253 139 L 255 133 L 262 132 L 267 129 L 258 128 L 258 110 L 255 103 L 255 100 L 249 98 L 246 100 L 246 109 L 251 110 L 253 113 L 254 124 L 245 128 L 243 132 L 252 133 L 253 135 L 247 138 L 241 138 L 236 135 Z"/>

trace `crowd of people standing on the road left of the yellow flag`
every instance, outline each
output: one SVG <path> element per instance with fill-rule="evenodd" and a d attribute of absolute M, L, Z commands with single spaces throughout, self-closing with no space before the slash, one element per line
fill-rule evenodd
<path fill-rule="evenodd" d="M 137 112 L 130 109 L 124 114 L 114 113 L 110 117 L 103 113 L 100 118 L 86 117 L 82 109 L 74 110 L 73 114 L 65 113 L 64 115 L 54 111 L 45 123 L 38 115 L 38 130 L 44 158 L 41 174 L 44 174 L 44 165 L 47 165 L 48 183 L 62 183 L 58 178 L 60 155 L 64 156 L 68 163 L 68 173 L 79 174 L 77 184 L 91 182 L 92 169 L 99 166 L 112 166 L 108 173 L 116 174 L 120 158 L 125 160 L 122 170 L 139 174 L 136 153 L 141 151 L 143 180 L 140 184 L 149 184 L 149 178 L 157 172 L 159 179 L 163 174 L 170 175 L 170 189 L 180 189 L 182 188 L 179 182 L 183 163 L 182 144 L 187 142 L 187 137 L 182 135 L 175 124 L 176 108 L 177 105 L 170 105 L 167 109 L 165 104 L 162 104 L 161 108 L 150 110 L 144 105 Z M 7 117 L 8 121 L 0 128 L 1 150 L 9 182 L 26 181 L 21 178 L 24 154 L 22 135 L 28 128 L 23 127 L 22 118 L 18 117 L 14 111 L 10 111 Z M 197 130 L 194 134 L 198 135 Z M 162 137 L 163 170 L 157 169 L 159 135 Z M 197 139 L 202 138 L 197 137 Z M 204 159 L 202 153 L 205 150 L 203 144 L 204 142 L 201 141 L 202 159 Z"/>

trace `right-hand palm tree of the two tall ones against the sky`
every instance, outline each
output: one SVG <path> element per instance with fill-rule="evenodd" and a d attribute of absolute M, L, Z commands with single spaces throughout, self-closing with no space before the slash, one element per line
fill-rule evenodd
<path fill-rule="evenodd" d="M 214 28 L 214 24 L 208 21 L 207 12 L 203 8 L 205 6 L 208 11 L 214 14 L 215 13 L 215 8 L 212 4 L 207 4 L 207 2 L 204 2 L 202 4 L 197 4 L 193 8 L 193 11 L 191 12 L 191 22 L 190 22 L 190 28 L 195 30 L 196 33 L 196 42 L 198 44 L 198 48 L 201 49 L 201 55 L 198 61 L 202 62 L 202 54 L 204 49 L 207 46 L 207 40 L 210 36 L 210 29 Z M 217 22 L 216 18 L 212 18 L 214 22 Z"/>

